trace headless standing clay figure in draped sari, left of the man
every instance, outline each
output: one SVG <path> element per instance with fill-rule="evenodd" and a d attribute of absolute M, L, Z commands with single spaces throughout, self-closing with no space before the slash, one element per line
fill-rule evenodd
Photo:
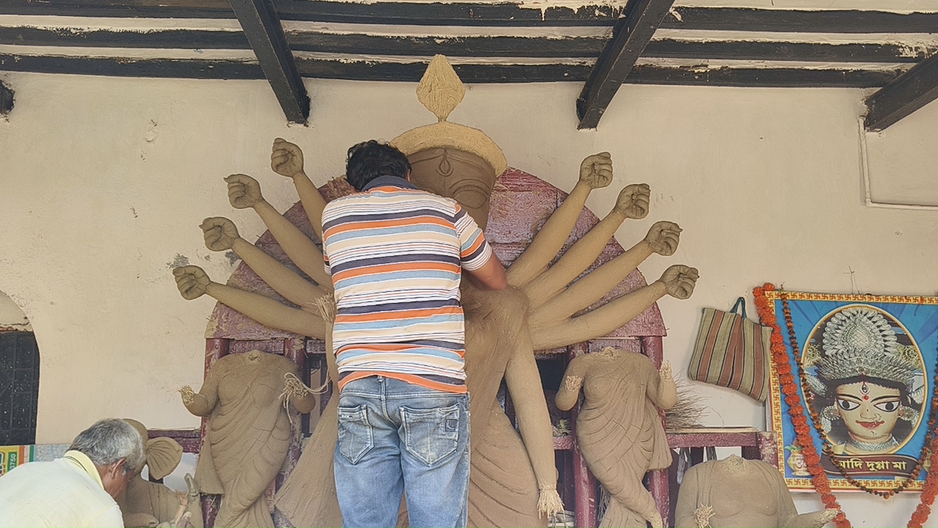
<path fill-rule="evenodd" d="M 260 499 L 290 447 L 287 404 L 298 412 L 315 406 L 311 393 L 295 390 L 296 374 L 289 359 L 251 350 L 216 361 L 198 393 L 182 389 L 189 412 L 210 415 L 195 478 L 204 493 L 222 495 L 218 528 L 273 528 Z"/>

